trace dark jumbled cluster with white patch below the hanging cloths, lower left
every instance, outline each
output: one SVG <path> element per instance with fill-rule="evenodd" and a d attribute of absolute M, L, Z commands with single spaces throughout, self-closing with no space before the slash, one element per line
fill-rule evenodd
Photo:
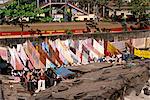
<path fill-rule="evenodd" d="M 20 82 L 31 94 L 38 93 L 45 90 L 45 88 L 54 86 L 60 81 L 56 73 L 50 68 L 47 70 L 34 69 L 32 71 L 12 70 L 11 74 L 15 77 L 15 81 Z"/>

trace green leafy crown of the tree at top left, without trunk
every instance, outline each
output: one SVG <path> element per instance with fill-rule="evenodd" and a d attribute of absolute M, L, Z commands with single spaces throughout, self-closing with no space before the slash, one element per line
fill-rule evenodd
<path fill-rule="evenodd" d="M 0 9 L 0 13 L 4 14 L 4 16 L 9 17 L 9 19 L 14 18 L 23 18 L 23 17 L 29 17 L 29 18 L 37 18 L 40 14 L 47 13 L 51 9 L 41 9 L 36 8 L 36 3 L 26 3 L 30 0 L 21 0 L 20 3 L 14 1 L 6 6 L 5 9 Z M 33 0 L 32 0 L 33 1 Z M 51 18 L 45 18 L 45 20 L 51 20 Z"/>

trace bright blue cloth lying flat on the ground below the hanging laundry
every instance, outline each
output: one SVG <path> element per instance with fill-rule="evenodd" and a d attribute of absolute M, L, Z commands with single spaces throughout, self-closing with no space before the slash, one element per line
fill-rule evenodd
<path fill-rule="evenodd" d="M 63 77 L 68 77 L 69 75 L 73 75 L 75 73 L 68 70 L 65 67 L 60 67 L 59 69 L 56 70 L 56 74 L 61 75 Z"/>

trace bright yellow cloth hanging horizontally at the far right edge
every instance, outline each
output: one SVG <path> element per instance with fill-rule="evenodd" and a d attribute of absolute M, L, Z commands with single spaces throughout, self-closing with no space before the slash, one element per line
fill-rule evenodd
<path fill-rule="evenodd" d="M 134 49 L 134 55 L 143 58 L 150 58 L 150 51 Z"/>

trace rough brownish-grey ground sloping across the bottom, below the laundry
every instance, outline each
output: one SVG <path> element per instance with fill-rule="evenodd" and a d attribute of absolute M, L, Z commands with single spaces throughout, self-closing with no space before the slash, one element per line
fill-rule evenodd
<path fill-rule="evenodd" d="M 64 80 L 33 96 L 20 84 L 10 88 L 8 76 L 7 80 L 6 76 L 0 77 L 0 95 L 5 100 L 150 100 L 142 90 L 150 86 L 150 60 L 135 60 L 126 65 L 93 63 L 69 69 L 78 73 L 78 77 Z"/>

